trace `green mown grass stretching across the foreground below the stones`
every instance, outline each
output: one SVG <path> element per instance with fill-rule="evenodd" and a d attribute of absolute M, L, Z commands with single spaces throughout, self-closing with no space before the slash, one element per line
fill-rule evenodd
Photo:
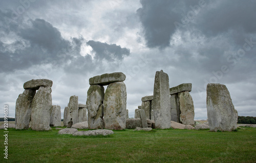
<path fill-rule="evenodd" d="M 237 132 L 125 129 L 108 137 L 57 132 L 9 129 L 8 160 L 2 154 L 0 162 L 256 162 L 256 128 L 251 127 Z"/>

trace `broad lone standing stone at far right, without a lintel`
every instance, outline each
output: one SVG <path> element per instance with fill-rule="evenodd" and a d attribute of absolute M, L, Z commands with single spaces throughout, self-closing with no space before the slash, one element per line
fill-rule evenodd
<path fill-rule="evenodd" d="M 210 131 L 232 131 L 237 129 L 238 112 L 225 85 L 208 84 L 207 117 Z"/>

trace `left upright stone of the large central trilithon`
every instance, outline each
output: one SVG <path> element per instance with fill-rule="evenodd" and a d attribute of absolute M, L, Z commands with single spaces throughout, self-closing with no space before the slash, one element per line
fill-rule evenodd
<path fill-rule="evenodd" d="M 88 126 L 89 129 L 104 128 L 103 121 L 104 87 L 90 86 L 87 92 Z"/>

